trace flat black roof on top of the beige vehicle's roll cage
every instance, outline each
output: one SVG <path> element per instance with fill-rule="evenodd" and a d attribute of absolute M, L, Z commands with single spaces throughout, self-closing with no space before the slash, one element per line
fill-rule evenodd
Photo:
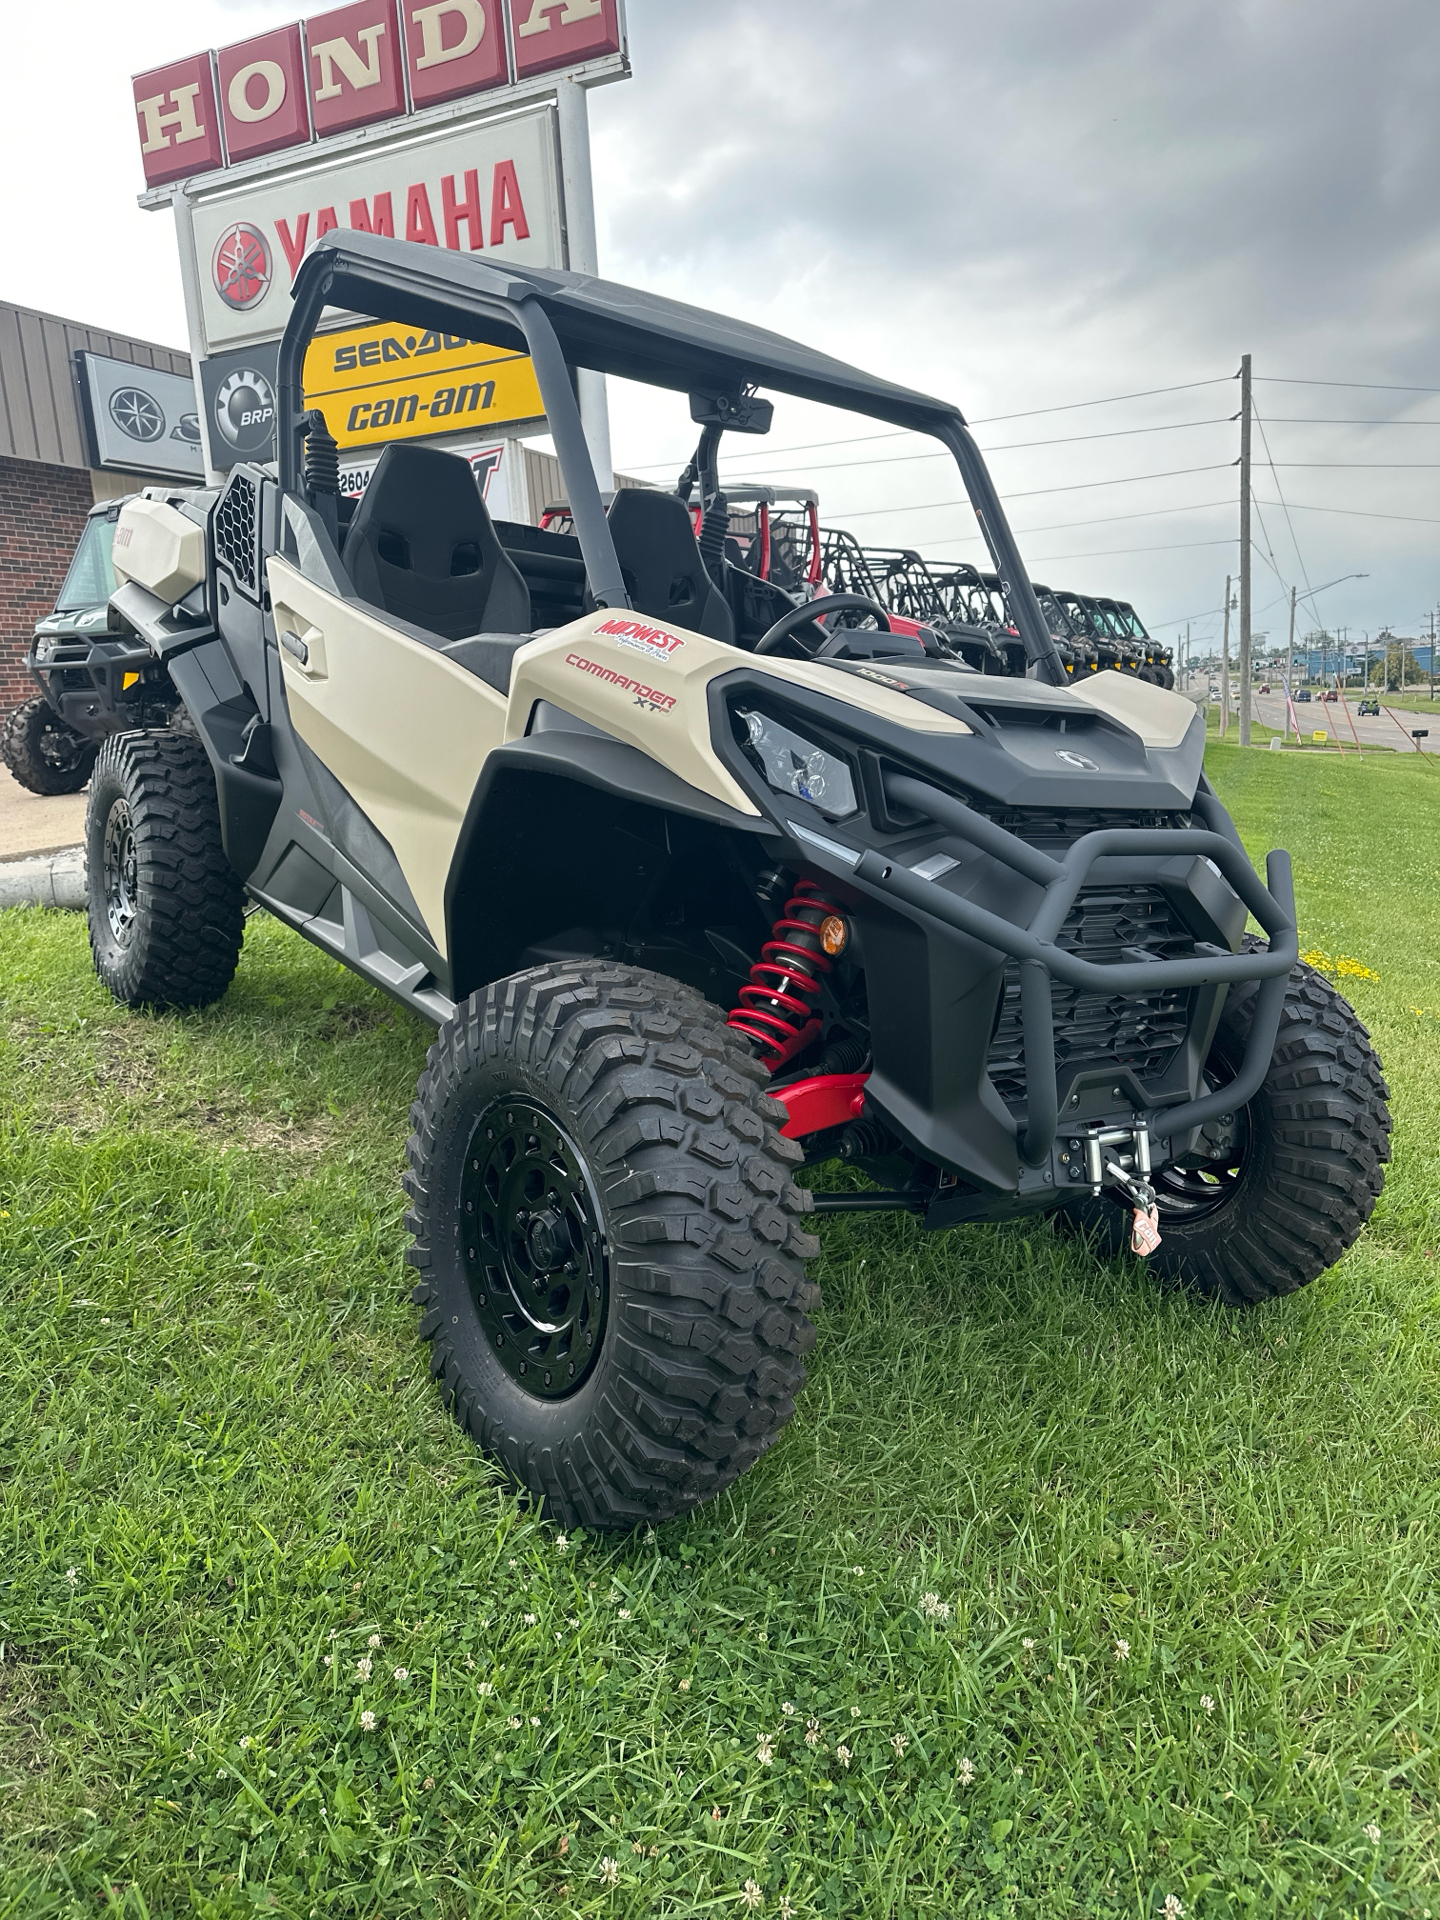
<path fill-rule="evenodd" d="M 526 348 L 522 332 L 505 324 L 495 303 L 534 300 L 572 367 L 593 367 L 682 394 L 733 394 L 755 382 L 922 432 L 941 422 L 962 422 L 960 409 L 948 401 L 877 380 L 783 334 L 588 273 L 516 267 L 334 228 L 305 257 L 296 298 L 317 275 L 328 276 L 330 305 L 378 321 L 424 323 L 520 351 Z"/>

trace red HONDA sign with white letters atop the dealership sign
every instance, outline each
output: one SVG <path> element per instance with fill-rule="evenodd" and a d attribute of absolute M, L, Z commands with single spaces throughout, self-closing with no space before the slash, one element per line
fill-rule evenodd
<path fill-rule="evenodd" d="M 353 0 L 136 75 L 146 186 L 622 52 L 620 0 Z"/>

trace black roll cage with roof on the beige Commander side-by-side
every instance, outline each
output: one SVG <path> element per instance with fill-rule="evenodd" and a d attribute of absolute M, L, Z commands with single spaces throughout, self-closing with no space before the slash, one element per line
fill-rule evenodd
<path fill-rule="evenodd" d="M 843 361 L 701 307 L 559 269 L 513 267 L 380 234 L 334 230 L 301 261 L 294 311 L 280 342 L 280 488 L 303 497 L 309 432 L 305 348 L 326 307 L 403 321 L 528 353 L 555 442 L 589 591 L 628 607 L 576 403 L 572 371 L 639 380 L 682 394 L 741 397 L 755 388 L 845 407 L 929 434 L 960 468 L 995 572 L 1037 678 L 1066 684 L 1066 668 L 1029 584 L 995 484 L 958 407 L 847 367 Z"/>

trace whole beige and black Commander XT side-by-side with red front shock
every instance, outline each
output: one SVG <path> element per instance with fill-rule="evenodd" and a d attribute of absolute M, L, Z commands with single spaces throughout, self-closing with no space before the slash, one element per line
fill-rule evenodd
<path fill-rule="evenodd" d="M 530 353 L 570 532 L 492 520 L 422 445 L 342 497 L 301 397 L 326 307 Z M 676 492 L 607 509 L 574 367 L 676 396 Z M 722 438 L 789 397 L 948 449 L 1023 674 L 726 551 Z M 1048 1215 L 1235 1306 L 1350 1246 L 1386 1089 L 1298 960 L 1290 862 L 1252 868 L 1190 701 L 1068 670 L 952 405 L 632 288 L 332 232 L 280 420 L 276 465 L 119 511 L 94 964 L 127 1006 L 205 1006 L 257 904 L 434 1023 L 420 1334 L 549 1513 L 662 1519 L 764 1453 L 822 1213 Z"/>

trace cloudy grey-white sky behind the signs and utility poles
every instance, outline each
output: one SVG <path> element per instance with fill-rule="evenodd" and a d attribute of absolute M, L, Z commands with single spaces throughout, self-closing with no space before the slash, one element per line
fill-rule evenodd
<path fill-rule="evenodd" d="M 61 77 L 54 10 L 25 10 L 0 294 L 182 344 L 129 75 L 298 12 L 75 0 Z M 1419 632 L 1440 599 L 1432 0 L 630 0 L 630 40 L 636 77 L 591 98 L 605 273 L 958 399 L 1035 576 L 1133 599 L 1167 637 L 1190 616 L 1196 645 L 1235 566 L 1250 351 L 1275 463 L 1256 626 L 1283 632 L 1290 582 L 1363 572 L 1325 620 Z M 979 559 L 947 461 L 900 457 L 920 442 L 814 447 L 874 432 L 781 403 L 730 472 L 816 486 L 866 541 Z M 685 442 L 614 396 L 618 465 L 660 478 Z"/>

